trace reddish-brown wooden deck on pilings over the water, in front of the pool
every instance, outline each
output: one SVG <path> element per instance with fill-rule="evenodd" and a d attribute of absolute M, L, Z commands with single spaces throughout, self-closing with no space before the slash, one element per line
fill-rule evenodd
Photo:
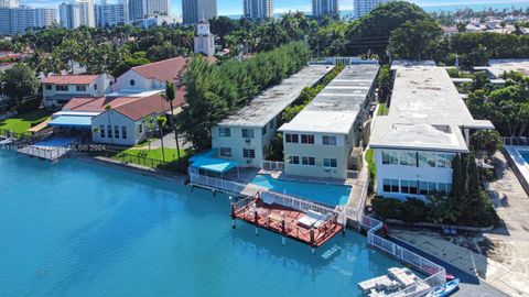
<path fill-rule="evenodd" d="M 266 204 L 260 198 L 249 197 L 231 204 L 231 218 L 282 234 L 299 242 L 319 248 L 344 230 L 336 213 L 323 216 L 314 224 L 302 224 L 306 212 L 278 204 Z"/>

